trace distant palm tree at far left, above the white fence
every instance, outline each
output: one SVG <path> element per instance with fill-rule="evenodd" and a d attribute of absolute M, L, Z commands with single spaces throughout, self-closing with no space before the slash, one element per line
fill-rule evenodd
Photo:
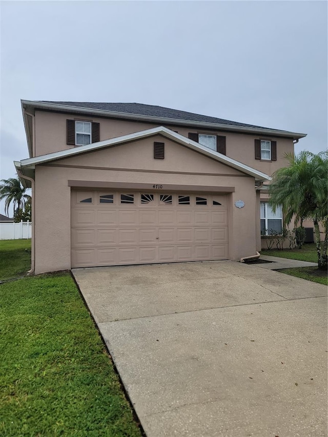
<path fill-rule="evenodd" d="M 19 210 L 25 206 L 25 203 L 31 199 L 26 193 L 26 188 L 20 184 L 17 177 L 2 179 L 0 181 L 0 200 L 5 200 L 5 213 L 8 214 L 9 206 L 12 203 L 14 211 Z"/>

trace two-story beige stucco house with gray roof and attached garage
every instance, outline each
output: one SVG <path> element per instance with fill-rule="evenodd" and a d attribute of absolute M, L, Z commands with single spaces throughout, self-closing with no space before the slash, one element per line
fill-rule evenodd
<path fill-rule="evenodd" d="M 282 225 L 265 183 L 304 134 L 139 103 L 22 101 L 32 271 L 239 260 Z M 264 189 L 263 189 L 264 188 Z"/>

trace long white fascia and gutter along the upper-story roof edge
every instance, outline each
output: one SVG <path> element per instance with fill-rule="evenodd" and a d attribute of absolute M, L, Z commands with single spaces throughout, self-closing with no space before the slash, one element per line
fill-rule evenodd
<path fill-rule="evenodd" d="M 40 101 L 33 100 L 22 100 L 22 105 L 32 105 L 36 108 L 43 109 L 52 109 L 59 110 L 64 112 L 83 112 L 86 114 L 94 114 L 94 115 L 106 115 L 114 117 L 114 118 L 128 118 L 131 120 L 142 120 L 142 121 L 151 121 L 151 122 L 160 122 L 160 123 L 169 123 L 181 126 L 198 126 L 199 128 L 212 128 L 212 129 L 220 129 L 225 131 L 240 131 L 240 132 L 250 132 L 257 133 L 263 135 L 272 135 L 272 136 L 282 136 L 282 137 L 291 137 L 294 139 L 306 137 L 307 134 L 301 134 L 297 132 L 290 131 L 280 131 L 275 129 L 259 129 L 259 128 L 248 128 L 242 126 L 234 126 L 233 124 L 220 124 L 220 123 L 208 123 L 205 121 L 190 121 L 190 120 L 180 120 L 176 118 L 165 118 L 165 117 L 155 117 L 152 115 L 138 115 L 138 114 L 130 114 L 127 112 L 116 112 L 116 111 L 105 111 L 103 109 L 92 109 L 92 108 L 82 108 L 79 106 L 68 106 L 68 105 L 57 105 L 56 103 L 44 103 Z"/>

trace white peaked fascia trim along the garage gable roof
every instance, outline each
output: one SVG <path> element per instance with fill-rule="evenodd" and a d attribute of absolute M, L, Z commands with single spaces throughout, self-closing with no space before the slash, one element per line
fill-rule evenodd
<path fill-rule="evenodd" d="M 229 158 L 228 156 L 222 155 L 221 153 L 214 152 L 213 150 L 204 147 L 203 145 L 195 142 L 189 138 L 186 138 L 183 135 L 176 134 L 175 132 L 167 129 L 163 126 L 159 126 L 153 129 L 147 129 L 146 131 L 135 132 L 129 135 L 123 135 L 117 138 L 111 138 L 105 141 L 95 142 L 93 144 L 80 145 L 75 147 L 74 149 L 69 150 L 61 150 L 60 152 L 49 153 L 48 155 L 37 156 L 34 158 L 23 159 L 20 161 L 22 167 L 25 168 L 34 168 L 36 164 L 42 164 L 49 161 L 54 161 L 60 158 L 68 158 L 74 155 L 80 155 L 82 153 L 90 152 L 93 150 L 103 149 L 108 147 L 109 145 L 121 144 L 133 140 L 138 140 L 141 138 L 147 138 L 156 134 L 160 134 L 167 138 L 172 139 L 182 145 L 187 145 L 190 149 L 195 150 L 197 152 L 201 152 L 203 155 L 206 155 L 210 158 L 213 158 L 223 164 L 227 164 L 229 167 L 233 167 L 236 170 L 239 170 L 245 174 L 253 176 L 256 180 L 269 180 L 269 176 L 265 173 L 262 173 L 248 165 L 243 164 L 242 162 L 236 161 L 235 159 Z"/>

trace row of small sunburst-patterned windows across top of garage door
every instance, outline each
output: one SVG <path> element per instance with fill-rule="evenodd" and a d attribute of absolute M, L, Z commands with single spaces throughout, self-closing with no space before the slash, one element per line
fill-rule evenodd
<path fill-rule="evenodd" d="M 117 194 L 119 197 L 119 201 L 121 204 L 134 204 L 135 203 L 135 195 L 134 194 Z M 102 194 L 99 195 L 99 203 L 114 203 L 114 194 Z M 160 204 L 164 205 L 172 205 L 173 197 L 171 194 L 160 194 L 159 195 Z M 81 199 L 79 203 L 92 203 L 92 197 L 87 197 L 85 199 Z M 149 204 L 154 203 L 154 194 L 140 194 L 140 204 Z M 177 204 L 178 205 L 210 205 L 210 199 L 207 197 L 200 196 L 186 196 L 184 194 L 177 195 Z M 212 205 L 221 205 L 217 200 L 212 200 Z"/>

